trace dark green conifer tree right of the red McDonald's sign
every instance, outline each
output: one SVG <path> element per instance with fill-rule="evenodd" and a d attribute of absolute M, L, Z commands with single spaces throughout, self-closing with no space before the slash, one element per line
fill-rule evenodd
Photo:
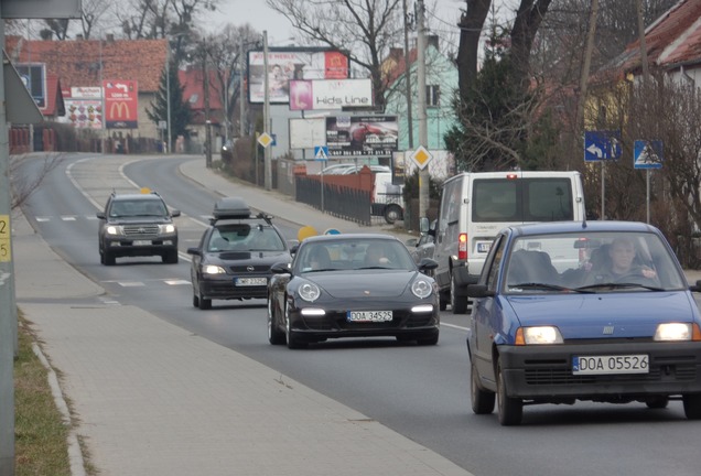
<path fill-rule="evenodd" d="M 190 125 L 192 111 L 190 105 L 183 100 L 184 87 L 180 84 L 177 68 L 172 62 L 168 72 L 164 69 L 161 73 L 161 84 L 155 94 L 155 101 L 151 102 L 150 108 L 147 108 L 147 116 L 155 123 L 159 121 L 165 121 L 168 123 L 169 79 L 166 74 L 170 74 L 171 140 L 174 140 L 177 136 L 186 138 L 187 125 Z M 172 143 L 168 145 L 169 150 L 173 150 Z"/>

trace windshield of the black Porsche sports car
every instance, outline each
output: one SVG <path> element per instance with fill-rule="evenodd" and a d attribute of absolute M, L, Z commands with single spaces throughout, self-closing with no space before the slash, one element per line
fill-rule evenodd
<path fill-rule="evenodd" d="M 346 238 L 303 244 L 295 258 L 298 272 L 417 269 L 407 248 L 396 240 Z"/>

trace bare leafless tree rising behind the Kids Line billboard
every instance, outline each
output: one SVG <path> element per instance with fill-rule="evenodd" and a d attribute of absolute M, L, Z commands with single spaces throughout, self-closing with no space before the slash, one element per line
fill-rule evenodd
<path fill-rule="evenodd" d="M 382 61 L 402 41 L 402 0 L 266 0 L 309 40 L 348 55 L 368 72 L 375 106 L 384 110 L 386 78 Z"/>

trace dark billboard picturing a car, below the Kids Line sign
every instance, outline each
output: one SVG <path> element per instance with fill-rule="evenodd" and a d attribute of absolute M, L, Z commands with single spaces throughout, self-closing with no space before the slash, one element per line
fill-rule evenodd
<path fill-rule="evenodd" d="M 336 116 L 326 118 L 328 156 L 392 156 L 397 150 L 397 116 Z"/>

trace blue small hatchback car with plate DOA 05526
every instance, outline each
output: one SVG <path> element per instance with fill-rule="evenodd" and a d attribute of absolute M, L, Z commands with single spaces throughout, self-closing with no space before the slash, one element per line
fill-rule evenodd
<path fill-rule="evenodd" d="M 472 409 L 576 400 L 665 408 L 701 419 L 701 317 L 672 249 L 629 221 L 548 223 L 495 238 L 473 300 Z"/>

